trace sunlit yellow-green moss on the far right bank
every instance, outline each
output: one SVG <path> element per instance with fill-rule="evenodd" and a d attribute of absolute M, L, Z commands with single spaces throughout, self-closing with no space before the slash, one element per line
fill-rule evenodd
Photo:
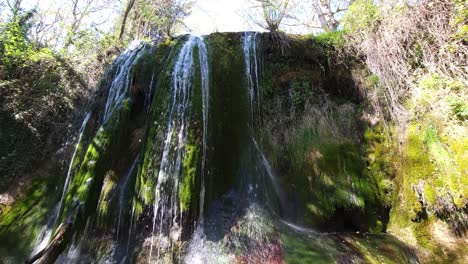
<path fill-rule="evenodd" d="M 446 250 L 431 231 L 437 221 L 434 215 L 437 198 L 452 194 L 455 205 L 463 207 L 463 202 L 455 198 L 464 197 L 460 182 L 462 170 L 454 159 L 457 152 L 452 152 L 449 146 L 433 125 L 412 122 L 406 130 L 401 157 L 395 162 L 397 189 L 390 213 L 390 222 L 395 226 L 392 230 L 404 229 L 406 234 L 401 235 L 413 237 L 419 246 L 440 256 L 437 261 L 447 258 Z M 417 194 L 416 186 L 423 188 L 422 196 Z"/>

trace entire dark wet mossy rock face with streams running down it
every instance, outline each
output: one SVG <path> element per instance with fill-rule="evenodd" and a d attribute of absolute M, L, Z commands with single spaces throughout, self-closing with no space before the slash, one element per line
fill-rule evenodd
<path fill-rule="evenodd" d="M 283 53 L 268 34 L 182 36 L 130 47 L 106 78 L 69 184 L 60 185 L 61 209 L 41 215 L 57 219 L 51 241 L 60 240 L 57 230 L 67 237 L 38 256 L 43 261 L 406 254 L 393 238 L 385 250 L 365 236 L 320 233 L 381 232 L 388 211 L 382 179 L 363 158 L 360 95 L 349 72 L 328 65 L 313 41 L 293 39 Z"/>

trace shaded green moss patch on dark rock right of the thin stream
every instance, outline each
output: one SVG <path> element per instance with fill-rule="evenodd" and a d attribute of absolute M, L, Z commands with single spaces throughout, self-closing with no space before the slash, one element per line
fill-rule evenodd
<path fill-rule="evenodd" d="M 296 134 L 291 152 L 295 168 L 292 181 L 302 186 L 302 193 L 308 197 L 309 221 L 337 221 L 336 218 L 342 217 L 337 216 L 340 214 L 337 210 L 355 208 L 352 209 L 356 213 L 354 219 L 351 213 L 346 220 L 351 225 L 382 229 L 377 223 L 378 214 L 374 215 L 374 212 L 385 204 L 380 200 L 379 181 L 383 176 L 372 175 L 366 170 L 363 153 L 357 145 L 326 137 L 314 129 L 305 129 Z M 359 218 L 362 219 L 357 220 Z"/>

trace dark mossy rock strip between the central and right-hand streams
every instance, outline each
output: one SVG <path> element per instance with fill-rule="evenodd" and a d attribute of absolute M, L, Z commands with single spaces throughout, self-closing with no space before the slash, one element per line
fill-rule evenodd
<path fill-rule="evenodd" d="M 249 142 L 249 101 L 241 35 L 216 33 L 205 42 L 210 75 L 210 173 L 205 179 L 209 204 L 239 182 L 242 150 Z"/>

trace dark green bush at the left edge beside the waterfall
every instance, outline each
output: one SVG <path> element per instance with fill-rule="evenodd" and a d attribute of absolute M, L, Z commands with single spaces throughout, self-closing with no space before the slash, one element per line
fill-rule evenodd
<path fill-rule="evenodd" d="M 28 41 L 27 26 L 19 19 L 0 28 L 3 191 L 62 146 L 87 89 L 65 59 Z"/>

